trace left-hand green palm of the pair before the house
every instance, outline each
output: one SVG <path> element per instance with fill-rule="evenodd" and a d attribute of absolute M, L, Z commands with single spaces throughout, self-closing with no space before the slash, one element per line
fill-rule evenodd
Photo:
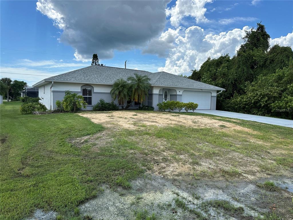
<path fill-rule="evenodd" d="M 122 105 L 122 109 L 124 109 L 124 102 L 128 100 L 130 96 L 130 84 L 124 79 L 117 79 L 113 87 L 110 91 L 111 97 L 113 100 L 118 98 L 118 102 Z"/>

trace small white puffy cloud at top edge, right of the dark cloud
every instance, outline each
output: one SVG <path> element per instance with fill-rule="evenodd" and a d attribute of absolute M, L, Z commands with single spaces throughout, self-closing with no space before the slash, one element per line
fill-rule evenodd
<path fill-rule="evenodd" d="M 171 16 L 170 22 L 173 26 L 178 27 L 182 18 L 191 16 L 197 22 L 207 21 L 205 12 L 207 9 L 204 7 L 206 3 L 211 3 L 212 0 L 177 0 L 176 5 L 166 9 L 166 15 Z"/>

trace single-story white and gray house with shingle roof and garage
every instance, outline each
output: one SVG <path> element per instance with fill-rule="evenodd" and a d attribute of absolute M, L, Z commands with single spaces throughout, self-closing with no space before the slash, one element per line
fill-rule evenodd
<path fill-rule="evenodd" d="M 48 109 L 56 108 L 56 100 L 62 100 L 64 92 L 69 90 L 84 96 L 88 103 L 86 110 L 92 110 L 100 99 L 112 100 L 110 90 L 116 79 L 127 79 L 134 73 L 147 75 L 151 79 L 151 89 L 143 104 L 154 106 L 155 110 L 158 110 L 159 102 L 168 100 L 192 101 L 198 104 L 197 109 L 216 109 L 217 94 L 225 90 L 167 72 L 152 73 L 96 65 L 53 76 L 33 86 L 39 87 L 39 97 Z M 118 103 L 117 100 L 115 102 Z M 130 109 L 137 107 L 137 103 L 133 102 Z"/>

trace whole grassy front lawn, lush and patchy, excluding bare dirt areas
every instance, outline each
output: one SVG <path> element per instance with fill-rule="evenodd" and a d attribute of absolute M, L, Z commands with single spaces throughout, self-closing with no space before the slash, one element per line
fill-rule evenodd
<path fill-rule="evenodd" d="M 134 129 L 128 129 L 93 123 L 73 113 L 21 115 L 19 107 L 20 102 L 0 106 L 1 219 L 23 219 L 32 216 L 35 209 L 54 210 L 59 219 L 81 219 L 78 207 L 102 194 L 103 184 L 130 190 L 131 180 L 147 171 L 168 176 L 167 168 L 174 164 L 192 167 L 192 180 L 186 181 L 193 182 L 260 178 L 262 173 L 292 177 L 292 128 L 204 114 L 158 112 L 154 114 L 176 116 L 172 119 L 188 116 L 190 120 L 200 116 L 223 124 L 147 126 L 144 121 L 133 121 Z M 129 112 L 129 120 L 149 114 Z M 222 205 L 217 201 L 206 204 Z M 288 204 L 285 215 L 292 214 Z M 187 205 L 186 210 L 197 212 Z M 136 213 L 148 215 L 145 210 Z"/>

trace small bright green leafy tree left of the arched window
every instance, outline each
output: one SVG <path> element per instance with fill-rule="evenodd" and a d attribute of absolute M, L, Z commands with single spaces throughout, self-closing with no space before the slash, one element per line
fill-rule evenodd
<path fill-rule="evenodd" d="M 63 108 L 65 111 L 75 112 L 76 109 L 86 108 L 86 101 L 84 101 L 84 97 L 77 93 L 72 93 L 70 91 L 65 91 L 65 96 L 62 101 Z"/>

